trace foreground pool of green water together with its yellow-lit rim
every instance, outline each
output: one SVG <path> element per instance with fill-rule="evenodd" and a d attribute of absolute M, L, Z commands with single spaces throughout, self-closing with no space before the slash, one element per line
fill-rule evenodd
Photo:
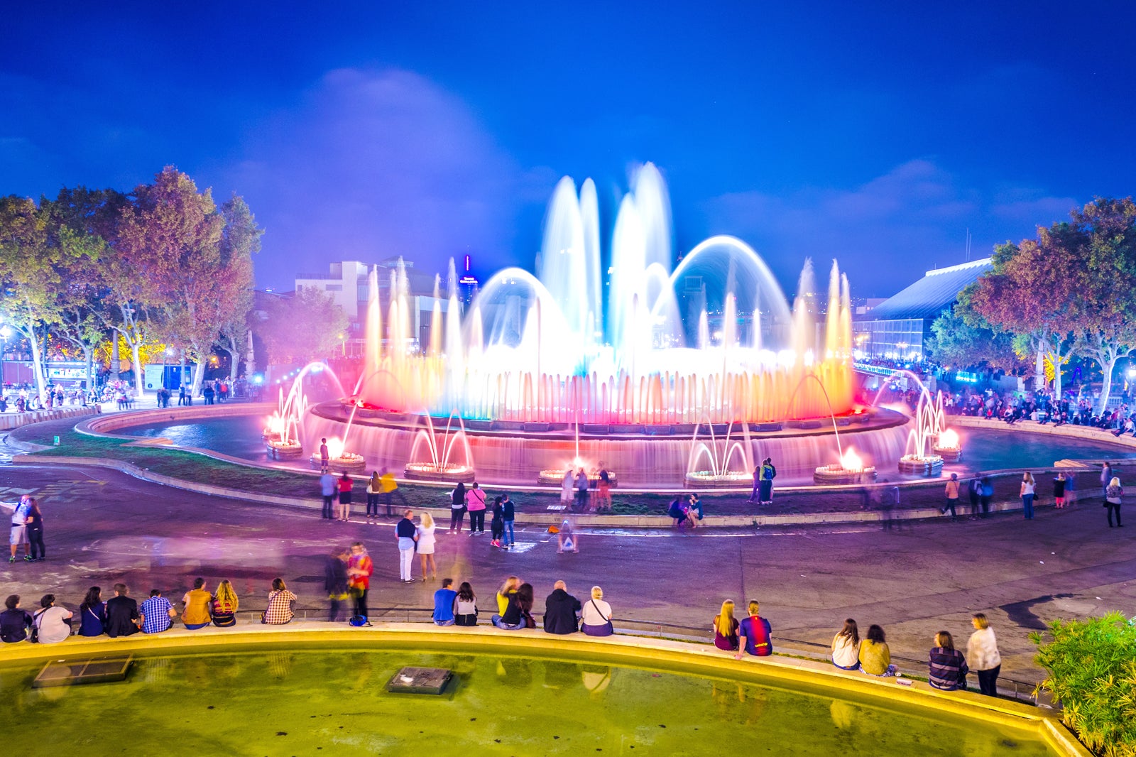
<path fill-rule="evenodd" d="M 444 631 L 239 626 L 70 641 L 40 656 L 25 644 L 0 664 L 0 696 L 19 702 L 19 722 L 36 724 L 44 754 L 142 732 L 176 738 L 182 751 L 233 755 L 671 755 L 711 742 L 786 755 L 949 755 L 960 744 L 968 754 L 1079 754 L 1037 708 L 830 665 L 738 663 L 709 644 L 634 638 Z M 106 655 L 133 655 L 126 682 L 30 688 L 49 659 Z M 441 696 L 389 691 L 408 666 L 452 680 Z M 114 718 L 108 696 L 120 705 Z M 504 712 L 501 702 L 521 705 Z"/>

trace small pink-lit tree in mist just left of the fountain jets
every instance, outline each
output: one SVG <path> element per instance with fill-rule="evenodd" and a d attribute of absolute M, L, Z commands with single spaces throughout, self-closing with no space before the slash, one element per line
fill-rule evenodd
<path fill-rule="evenodd" d="M 269 359 L 277 364 L 303 365 L 328 357 L 339 349 L 348 327 L 335 299 L 315 289 L 274 298 L 265 309 L 268 317 L 260 334 Z"/>

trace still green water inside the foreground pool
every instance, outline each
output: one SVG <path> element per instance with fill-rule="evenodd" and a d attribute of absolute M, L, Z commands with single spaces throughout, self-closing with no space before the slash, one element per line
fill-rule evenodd
<path fill-rule="evenodd" d="M 451 668 L 458 683 L 387 693 L 406 665 Z M 925 710 L 557 659 L 187 654 L 136 657 L 120 683 L 33 690 L 40 667 L 0 665 L 0 732 L 39 755 L 1051 754 L 1025 731 Z"/>

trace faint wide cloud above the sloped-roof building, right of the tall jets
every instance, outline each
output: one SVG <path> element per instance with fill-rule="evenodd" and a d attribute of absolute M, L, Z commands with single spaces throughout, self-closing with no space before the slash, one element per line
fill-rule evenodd
<path fill-rule="evenodd" d="M 927 269 L 989 255 L 995 242 L 1031 236 L 1037 224 L 1067 217 L 1069 198 L 1028 189 L 995 197 L 962 185 L 929 159 L 916 159 L 852 189 L 804 188 L 771 196 L 749 191 L 704 201 L 707 233 L 753 244 L 777 277 L 792 283 L 805 257 L 820 268 L 836 258 L 853 293 L 886 297 Z"/>

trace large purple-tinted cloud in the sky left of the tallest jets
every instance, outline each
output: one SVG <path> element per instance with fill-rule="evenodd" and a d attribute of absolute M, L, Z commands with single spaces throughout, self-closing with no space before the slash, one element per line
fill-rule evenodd
<path fill-rule="evenodd" d="M 433 273 L 469 251 L 486 271 L 511 255 L 520 209 L 554 183 L 521 169 L 465 102 L 404 70 L 329 72 L 220 170 L 267 230 L 261 260 L 274 271 L 262 265 L 258 283 L 276 286 L 329 261 L 400 255 Z"/>

